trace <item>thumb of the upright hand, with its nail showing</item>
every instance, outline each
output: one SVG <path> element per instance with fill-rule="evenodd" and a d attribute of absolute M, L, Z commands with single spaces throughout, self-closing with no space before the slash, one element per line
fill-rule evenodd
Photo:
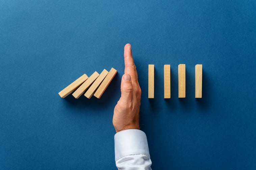
<path fill-rule="evenodd" d="M 132 101 L 132 82 L 129 74 L 124 74 L 122 77 L 121 100 L 125 103 Z"/>

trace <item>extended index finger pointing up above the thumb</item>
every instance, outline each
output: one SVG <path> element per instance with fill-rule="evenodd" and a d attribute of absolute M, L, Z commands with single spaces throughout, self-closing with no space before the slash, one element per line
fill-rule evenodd
<path fill-rule="evenodd" d="M 124 64 L 125 64 L 124 73 L 129 74 L 131 76 L 132 83 L 137 83 L 138 75 L 137 75 L 136 66 L 134 64 L 134 60 L 132 57 L 130 44 L 126 44 L 124 47 Z"/>

